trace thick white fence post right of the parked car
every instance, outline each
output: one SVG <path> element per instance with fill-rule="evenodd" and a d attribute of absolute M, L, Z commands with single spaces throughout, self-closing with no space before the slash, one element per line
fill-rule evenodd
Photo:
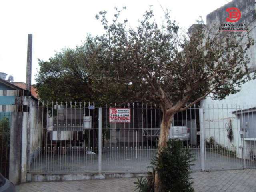
<path fill-rule="evenodd" d="M 201 154 L 201 163 L 202 171 L 205 171 L 205 145 L 204 145 L 204 109 L 199 109 L 199 118 L 200 118 L 200 154 Z"/>

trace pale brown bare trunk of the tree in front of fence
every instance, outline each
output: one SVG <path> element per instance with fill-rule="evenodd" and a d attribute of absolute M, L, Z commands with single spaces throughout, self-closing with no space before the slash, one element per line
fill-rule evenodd
<path fill-rule="evenodd" d="M 157 152 L 159 153 L 163 147 L 166 146 L 166 142 L 168 141 L 168 136 L 169 136 L 169 129 L 170 129 L 170 124 L 172 120 L 173 114 L 166 114 L 166 111 L 163 110 L 163 118 L 161 122 L 161 128 L 160 128 L 160 136 L 158 140 L 158 149 Z M 155 172 L 155 178 L 154 178 L 154 187 L 155 187 L 155 192 L 160 192 L 160 179 L 158 172 Z"/>

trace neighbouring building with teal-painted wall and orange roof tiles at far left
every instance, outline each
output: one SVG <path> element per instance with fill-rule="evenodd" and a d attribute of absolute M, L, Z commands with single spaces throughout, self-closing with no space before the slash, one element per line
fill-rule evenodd
<path fill-rule="evenodd" d="M 0 172 L 17 182 L 20 179 L 17 176 L 17 170 L 20 170 L 21 163 L 24 164 L 27 161 L 24 156 L 18 158 L 21 156 L 21 151 L 23 154 L 27 153 L 26 145 L 21 144 L 22 137 L 28 138 L 31 144 L 40 143 L 40 138 L 36 140 L 26 132 L 29 126 L 33 127 L 35 124 L 41 125 L 42 123 L 34 120 L 36 116 L 40 115 L 40 112 L 34 108 L 38 101 L 36 90 L 32 87 L 31 93 L 28 93 L 25 90 L 26 84 L 12 83 L 13 77 L 9 76 L 8 80 L 5 80 L 6 76 L 6 73 L 0 73 L 0 121 L 9 121 L 8 127 L 3 127 L 2 123 L 0 124 L 0 133 L 2 132 L 0 134 L 0 156 L 2 156 L 0 158 Z M 38 134 L 41 136 L 41 132 L 35 135 Z M 30 152 L 28 157 L 34 155 L 35 152 Z M 24 170 L 21 174 L 23 172 Z"/>

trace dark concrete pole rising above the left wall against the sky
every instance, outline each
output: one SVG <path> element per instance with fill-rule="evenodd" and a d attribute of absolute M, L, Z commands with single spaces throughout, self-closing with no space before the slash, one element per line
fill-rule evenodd
<path fill-rule="evenodd" d="M 32 71 L 32 34 L 28 34 L 28 51 L 27 51 L 27 73 L 26 73 L 26 90 L 31 92 L 31 71 Z"/>

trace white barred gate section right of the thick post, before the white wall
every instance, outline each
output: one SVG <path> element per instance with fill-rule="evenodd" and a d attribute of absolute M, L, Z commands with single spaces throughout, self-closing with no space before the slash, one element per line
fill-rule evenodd
<path fill-rule="evenodd" d="M 202 170 L 256 167 L 255 107 L 208 105 L 200 123 Z"/>

